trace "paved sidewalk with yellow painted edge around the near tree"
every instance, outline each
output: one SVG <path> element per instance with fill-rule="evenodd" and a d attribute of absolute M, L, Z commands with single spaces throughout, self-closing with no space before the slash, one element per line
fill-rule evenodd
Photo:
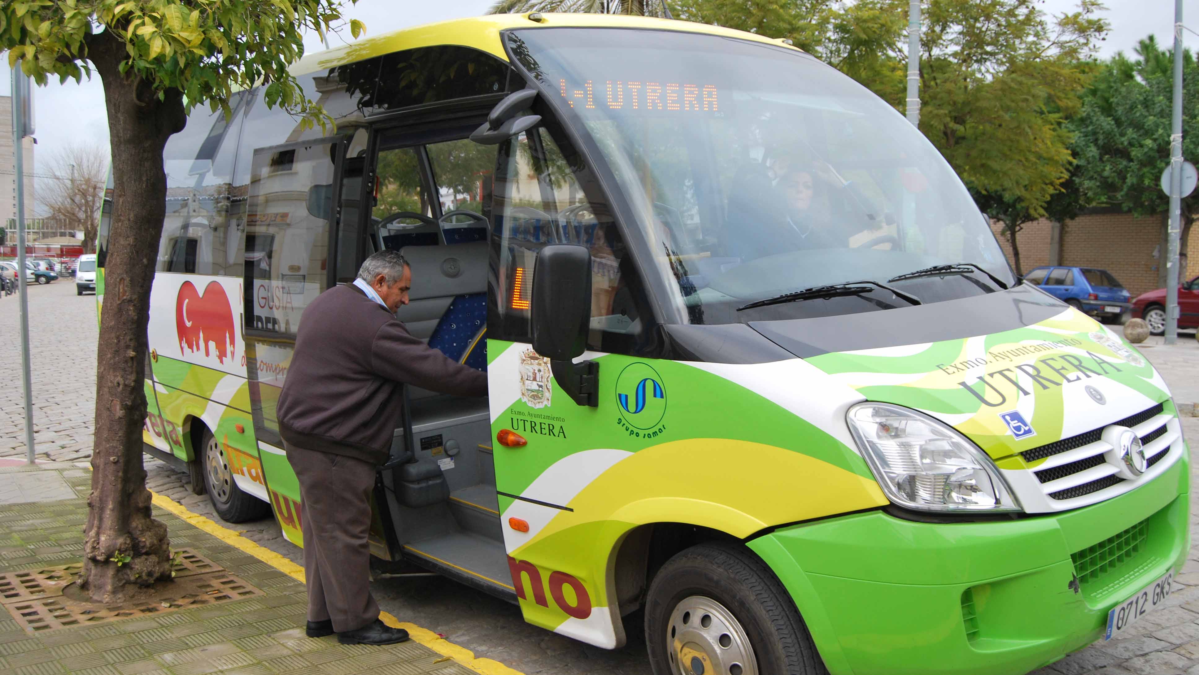
<path fill-rule="evenodd" d="M 0 589 L 5 587 L 6 573 L 65 566 L 78 562 L 83 554 L 80 531 L 88 513 L 83 498 L 90 490 L 91 472 L 61 464 L 0 468 L 0 495 L 24 494 L 12 486 L 35 483 L 65 486 L 70 496 L 25 502 L 0 499 Z M 61 496 L 56 492 L 41 494 Z M 186 548 L 199 554 L 260 590 L 261 595 L 219 604 L 205 602 L 200 607 L 188 605 L 161 614 L 133 615 L 95 626 L 86 626 L 88 620 L 83 620 L 84 625 L 78 627 L 30 632 L 8 610 L 23 602 L 11 599 L 12 586 L 8 586 L 10 590 L 0 597 L 4 602 L 0 608 L 0 673 L 519 675 L 495 662 L 474 662 L 469 652 L 444 640 L 438 645 L 438 635 L 415 626 L 400 625 L 414 633 L 414 640 L 385 647 L 341 645 L 335 637 L 307 638 L 303 634 L 303 584 L 269 563 L 273 560 L 270 552 L 203 517 L 187 513 L 161 496 L 156 498 L 153 514 L 167 524 L 173 550 Z M 285 560 L 279 566 L 289 565 L 295 567 Z M 210 575 L 219 577 L 218 573 Z M 180 573 L 176 584 L 182 577 Z M 38 602 L 47 599 L 43 596 Z M 201 596 L 197 602 L 203 601 Z M 29 604 L 20 607 L 28 608 Z M 427 644 L 439 649 L 430 649 Z M 454 657 L 472 663 L 472 667 L 468 668 Z"/>

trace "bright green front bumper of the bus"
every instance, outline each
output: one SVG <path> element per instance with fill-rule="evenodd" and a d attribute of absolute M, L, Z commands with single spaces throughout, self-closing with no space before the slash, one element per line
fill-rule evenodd
<path fill-rule="evenodd" d="M 873 511 L 748 546 L 783 581 L 833 675 L 1028 673 L 1102 639 L 1108 610 L 1181 568 L 1187 457 L 1150 484 L 1065 513 L 917 523 Z M 1125 555 L 1076 581 L 1072 554 L 1097 550 Z"/>

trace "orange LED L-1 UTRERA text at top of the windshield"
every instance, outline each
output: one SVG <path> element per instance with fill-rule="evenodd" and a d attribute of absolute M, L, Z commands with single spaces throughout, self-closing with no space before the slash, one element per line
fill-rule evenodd
<path fill-rule="evenodd" d="M 605 80 L 600 92 L 594 80 L 583 83 L 583 89 L 566 85 L 565 79 L 558 80 L 562 98 L 571 108 L 595 109 L 608 108 L 620 110 L 671 110 L 693 113 L 716 113 L 719 94 L 711 84 L 686 84 L 677 82 L 644 80 Z"/>

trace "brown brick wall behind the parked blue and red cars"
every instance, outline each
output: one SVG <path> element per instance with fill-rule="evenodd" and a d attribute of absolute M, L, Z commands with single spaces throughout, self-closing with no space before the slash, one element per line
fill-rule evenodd
<path fill-rule="evenodd" d="M 1008 260 L 1012 252 L 1002 225 L 993 225 L 995 236 Z M 1183 279 L 1199 275 L 1199 227 L 1192 227 L 1188 242 L 1187 272 Z M 1024 225 L 1017 234 L 1020 247 L 1020 267 L 1024 272 L 1049 264 L 1049 221 Z M 1086 213 L 1070 221 L 1061 233 L 1062 265 L 1098 267 L 1111 272 L 1133 297 L 1162 288 L 1158 282 L 1158 259 L 1153 251 L 1162 242 L 1162 216 L 1138 218 L 1131 213 Z"/>

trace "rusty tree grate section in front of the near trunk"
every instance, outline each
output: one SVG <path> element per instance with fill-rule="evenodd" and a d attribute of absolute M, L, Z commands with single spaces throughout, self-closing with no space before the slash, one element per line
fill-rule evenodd
<path fill-rule="evenodd" d="M 7 602 L 4 607 L 23 628 L 31 633 L 40 633 L 54 628 L 95 626 L 134 616 L 157 616 L 180 609 L 266 595 L 227 572 L 176 577 L 171 581 L 169 591 L 170 595 L 165 597 L 116 607 L 103 607 L 62 595 L 28 602 Z"/>

